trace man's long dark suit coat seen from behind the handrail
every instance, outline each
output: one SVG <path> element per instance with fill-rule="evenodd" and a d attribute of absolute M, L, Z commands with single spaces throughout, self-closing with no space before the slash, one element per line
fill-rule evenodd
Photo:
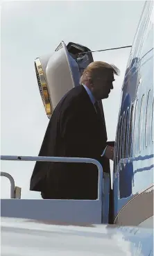
<path fill-rule="evenodd" d="M 49 121 L 40 156 L 99 159 L 107 140 L 103 123 L 83 86 L 71 89 Z M 31 190 L 43 198 L 97 198 L 98 171 L 94 164 L 37 162 Z"/>

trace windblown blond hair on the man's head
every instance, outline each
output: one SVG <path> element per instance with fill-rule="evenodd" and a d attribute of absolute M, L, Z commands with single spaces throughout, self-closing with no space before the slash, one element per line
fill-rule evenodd
<path fill-rule="evenodd" d="M 103 61 L 94 61 L 90 63 L 83 71 L 83 76 L 80 78 L 80 84 L 87 82 L 87 80 L 92 79 L 94 74 L 101 74 L 102 71 L 112 71 L 113 74 L 119 75 L 119 69 Z"/>

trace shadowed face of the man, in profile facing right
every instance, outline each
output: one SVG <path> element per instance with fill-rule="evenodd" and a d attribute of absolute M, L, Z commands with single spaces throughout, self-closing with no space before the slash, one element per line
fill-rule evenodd
<path fill-rule="evenodd" d="M 107 99 L 113 89 L 114 75 L 112 71 L 105 71 L 93 78 L 92 94 L 96 100 Z"/>

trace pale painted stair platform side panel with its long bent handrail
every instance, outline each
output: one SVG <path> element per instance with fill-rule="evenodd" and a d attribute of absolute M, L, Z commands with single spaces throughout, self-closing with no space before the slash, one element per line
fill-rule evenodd
<path fill-rule="evenodd" d="M 2 155 L 1 160 L 84 162 L 95 164 L 99 170 L 97 200 L 1 199 L 1 216 L 43 219 L 55 223 L 108 223 L 110 176 L 108 173 L 103 173 L 102 166 L 98 161 L 78 157 L 28 157 L 10 155 Z"/>

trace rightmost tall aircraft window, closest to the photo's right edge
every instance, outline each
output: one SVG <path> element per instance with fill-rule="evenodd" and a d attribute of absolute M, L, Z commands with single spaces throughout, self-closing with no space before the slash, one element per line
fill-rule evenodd
<path fill-rule="evenodd" d="M 148 99 L 146 105 L 146 126 L 145 126 L 145 137 L 146 137 L 146 147 L 149 144 L 149 132 L 151 130 L 151 90 L 148 92 Z"/>

